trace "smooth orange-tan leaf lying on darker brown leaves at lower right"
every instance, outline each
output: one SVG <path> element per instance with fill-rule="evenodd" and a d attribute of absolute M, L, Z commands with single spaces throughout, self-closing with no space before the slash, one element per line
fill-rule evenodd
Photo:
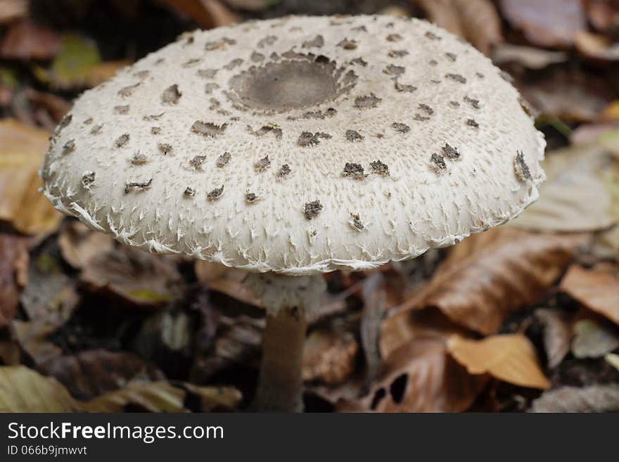
<path fill-rule="evenodd" d="M 525 335 L 492 335 L 469 340 L 453 335 L 447 350 L 468 373 L 490 374 L 513 385 L 547 390 L 550 381 L 544 376 L 532 343 Z"/>

